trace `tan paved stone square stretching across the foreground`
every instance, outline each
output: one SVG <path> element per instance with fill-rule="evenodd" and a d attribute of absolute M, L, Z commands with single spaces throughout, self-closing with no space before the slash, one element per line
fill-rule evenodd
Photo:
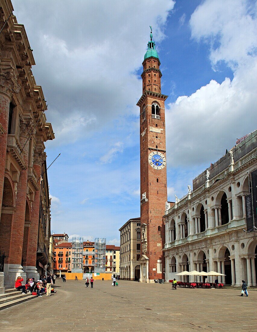
<path fill-rule="evenodd" d="M 56 281 L 57 293 L 0 311 L 3 331 L 257 331 L 257 291 Z"/>

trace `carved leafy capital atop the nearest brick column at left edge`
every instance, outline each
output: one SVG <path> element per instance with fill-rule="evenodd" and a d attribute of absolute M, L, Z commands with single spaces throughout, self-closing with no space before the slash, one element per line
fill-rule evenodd
<path fill-rule="evenodd" d="M 17 82 L 17 77 L 12 66 L 0 68 L 0 91 L 8 94 L 19 93 L 21 86 Z"/>

